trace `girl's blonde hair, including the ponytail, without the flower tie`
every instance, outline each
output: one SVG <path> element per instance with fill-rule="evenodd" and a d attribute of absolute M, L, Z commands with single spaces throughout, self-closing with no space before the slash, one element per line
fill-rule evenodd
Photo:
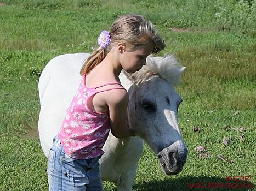
<path fill-rule="evenodd" d="M 141 15 L 122 15 L 113 22 L 110 29 L 111 44 L 118 42 L 130 44 L 133 47 L 153 43 L 152 53 L 157 53 L 166 47 L 163 39 L 158 35 L 157 28 L 146 21 Z M 98 47 L 84 62 L 80 71 L 81 75 L 88 74 L 106 57 L 107 51 Z"/>

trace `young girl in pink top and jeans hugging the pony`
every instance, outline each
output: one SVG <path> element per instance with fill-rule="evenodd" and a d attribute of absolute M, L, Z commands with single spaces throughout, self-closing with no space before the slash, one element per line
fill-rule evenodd
<path fill-rule="evenodd" d="M 152 23 L 140 15 L 119 17 L 110 32 L 101 32 L 98 44 L 83 64 L 81 85 L 49 151 L 50 191 L 103 190 L 99 159 L 110 129 L 117 138 L 135 136 L 126 122 L 129 96 L 118 76 L 122 69 L 138 71 L 147 56 L 165 47 Z"/>

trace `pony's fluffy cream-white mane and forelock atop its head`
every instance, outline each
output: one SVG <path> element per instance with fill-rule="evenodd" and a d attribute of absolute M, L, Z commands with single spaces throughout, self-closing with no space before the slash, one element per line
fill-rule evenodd
<path fill-rule="evenodd" d="M 149 56 L 146 62 L 147 64 L 134 74 L 124 72 L 135 85 L 140 85 L 150 80 L 153 76 L 159 76 L 170 85 L 177 86 L 180 81 L 180 75 L 186 69 L 186 67 L 180 67 L 179 62 L 173 55 L 165 57 Z"/>

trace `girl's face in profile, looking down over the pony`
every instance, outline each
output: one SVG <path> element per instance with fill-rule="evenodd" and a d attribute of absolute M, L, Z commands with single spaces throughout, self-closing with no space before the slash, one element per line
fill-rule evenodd
<path fill-rule="evenodd" d="M 120 55 L 120 64 L 128 73 L 135 73 L 146 64 L 146 58 L 152 51 L 152 43 L 123 49 Z"/>

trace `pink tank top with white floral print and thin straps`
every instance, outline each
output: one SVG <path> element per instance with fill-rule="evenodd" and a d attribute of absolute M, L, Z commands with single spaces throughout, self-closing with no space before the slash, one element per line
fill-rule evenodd
<path fill-rule="evenodd" d="M 118 84 L 121 87 L 97 91 L 96 88 Z M 98 87 L 86 87 L 84 75 L 61 124 L 58 138 L 67 156 L 76 159 L 98 157 L 110 131 L 109 112 L 95 112 L 88 108 L 88 99 L 96 93 L 111 89 L 124 89 L 120 83 L 107 83 Z"/>

